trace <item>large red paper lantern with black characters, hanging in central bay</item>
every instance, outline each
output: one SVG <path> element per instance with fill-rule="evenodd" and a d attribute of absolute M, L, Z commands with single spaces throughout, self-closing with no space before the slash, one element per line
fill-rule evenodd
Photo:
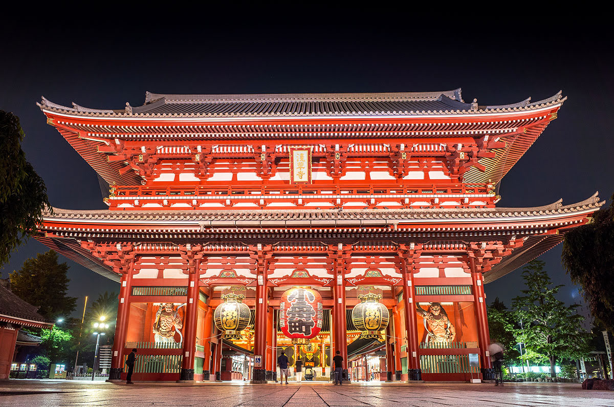
<path fill-rule="evenodd" d="M 279 302 L 279 326 L 293 344 L 306 344 L 322 329 L 322 296 L 311 288 L 290 288 Z"/>

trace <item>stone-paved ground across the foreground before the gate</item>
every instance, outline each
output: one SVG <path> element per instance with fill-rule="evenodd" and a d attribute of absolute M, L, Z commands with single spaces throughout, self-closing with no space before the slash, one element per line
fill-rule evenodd
<path fill-rule="evenodd" d="M 0 382 L 0 406 L 614 406 L 614 392 L 580 384 L 154 384 Z"/>

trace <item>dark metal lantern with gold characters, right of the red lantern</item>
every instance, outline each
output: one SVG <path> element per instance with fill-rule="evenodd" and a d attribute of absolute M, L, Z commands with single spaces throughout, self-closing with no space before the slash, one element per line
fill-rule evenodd
<path fill-rule="evenodd" d="M 360 304 L 356 304 L 352 309 L 352 322 L 362 333 L 359 339 L 378 339 L 383 341 L 379 331 L 388 326 L 388 309 L 384 304 L 380 304 L 381 294 L 360 294 L 358 296 Z"/>

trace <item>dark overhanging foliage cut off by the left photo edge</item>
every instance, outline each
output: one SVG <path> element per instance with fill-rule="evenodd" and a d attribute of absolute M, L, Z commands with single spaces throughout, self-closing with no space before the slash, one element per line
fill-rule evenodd
<path fill-rule="evenodd" d="M 18 117 L 0 110 L 0 265 L 36 233 L 42 210 L 51 207 L 44 181 L 21 149 L 23 137 Z"/>

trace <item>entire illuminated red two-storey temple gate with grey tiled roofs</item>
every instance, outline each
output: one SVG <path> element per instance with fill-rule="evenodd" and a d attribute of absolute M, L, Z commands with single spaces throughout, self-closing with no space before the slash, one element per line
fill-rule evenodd
<path fill-rule="evenodd" d="M 132 347 L 136 380 L 266 381 L 281 349 L 314 379 L 336 350 L 348 361 L 376 349 L 388 380 L 489 377 L 483 284 L 602 204 L 495 207 L 497 183 L 564 100 L 147 93 L 142 106 L 103 110 L 43 99 L 47 122 L 109 184 L 109 209 L 55 208 L 37 239 L 120 282 L 114 379 Z M 306 344 L 278 327 L 294 287 L 321 296 L 321 322 L 291 325 L 321 323 Z M 222 339 L 214 310 L 239 288 L 250 321 Z M 361 318 L 382 323 L 372 335 L 352 322 L 361 294 Z"/>

